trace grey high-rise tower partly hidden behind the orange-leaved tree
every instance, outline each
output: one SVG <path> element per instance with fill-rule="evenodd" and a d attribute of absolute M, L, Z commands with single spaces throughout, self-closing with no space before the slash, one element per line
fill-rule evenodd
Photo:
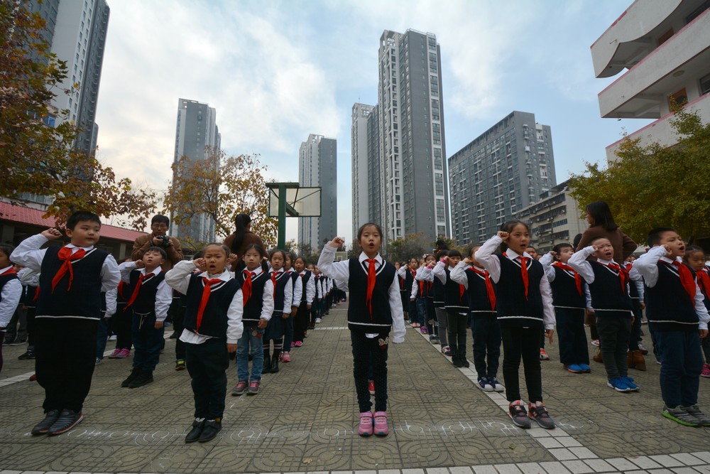
<path fill-rule="evenodd" d="M 217 111 L 207 104 L 190 99 L 178 99 L 178 123 L 175 126 L 175 157 L 187 156 L 192 161 L 207 158 L 206 147 L 220 149 L 222 136 L 217 127 Z M 190 220 L 189 225 L 172 224 L 171 235 L 197 242 L 214 242 L 214 222 L 206 214 Z"/>

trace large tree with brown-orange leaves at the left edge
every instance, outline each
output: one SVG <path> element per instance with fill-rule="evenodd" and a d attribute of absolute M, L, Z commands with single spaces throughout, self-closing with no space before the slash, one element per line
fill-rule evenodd
<path fill-rule="evenodd" d="M 0 2 L 0 197 L 48 196 L 53 204 L 45 216 L 58 225 L 75 210 L 89 210 L 102 217 L 124 215 L 144 229 L 155 194 L 136 189 L 128 178 L 117 180 L 93 153 L 75 150 L 77 126 L 68 110 L 51 105 L 58 93 L 71 92 L 60 90 L 66 62 L 50 52 L 42 36 L 45 20 L 25 3 Z"/>

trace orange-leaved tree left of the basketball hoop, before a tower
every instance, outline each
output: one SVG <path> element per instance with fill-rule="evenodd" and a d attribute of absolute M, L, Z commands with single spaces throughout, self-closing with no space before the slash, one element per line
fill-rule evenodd
<path fill-rule="evenodd" d="M 278 220 L 268 217 L 266 166 L 256 155 L 227 156 L 207 147 L 203 160 L 182 156 L 173 163 L 173 182 L 163 205 L 177 225 L 190 225 L 200 214 L 214 222 L 217 235 L 224 238 L 234 231 L 237 214 L 251 216 L 251 232 L 261 237 L 267 248 L 276 242 Z M 196 246 L 204 242 L 187 242 Z"/>

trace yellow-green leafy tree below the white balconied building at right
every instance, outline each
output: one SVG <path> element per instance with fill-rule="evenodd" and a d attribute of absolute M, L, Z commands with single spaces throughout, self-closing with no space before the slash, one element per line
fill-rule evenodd
<path fill-rule="evenodd" d="M 606 201 L 636 242 L 644 242 L 653 227 L 674 227 L 686 238 L 710 231 L 710 124 L 696 111 L 675 112 L 677 145 L 642 146 L 627 137 L 616 152 L 618 161 L 606 168 L 586 163 L 585 173 L 570 181 L 580 203 Z"/>

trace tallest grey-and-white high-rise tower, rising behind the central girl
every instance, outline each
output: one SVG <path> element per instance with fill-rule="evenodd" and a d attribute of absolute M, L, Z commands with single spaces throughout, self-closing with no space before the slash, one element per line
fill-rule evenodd
<path fill-rule="evenodd" d="M 449 232 L 441 50 L 432 33 L 384 31 L 378 55 L 381 224 L 387 239 Z M 374 220 L 374 219 L 373 219 Z"/>

